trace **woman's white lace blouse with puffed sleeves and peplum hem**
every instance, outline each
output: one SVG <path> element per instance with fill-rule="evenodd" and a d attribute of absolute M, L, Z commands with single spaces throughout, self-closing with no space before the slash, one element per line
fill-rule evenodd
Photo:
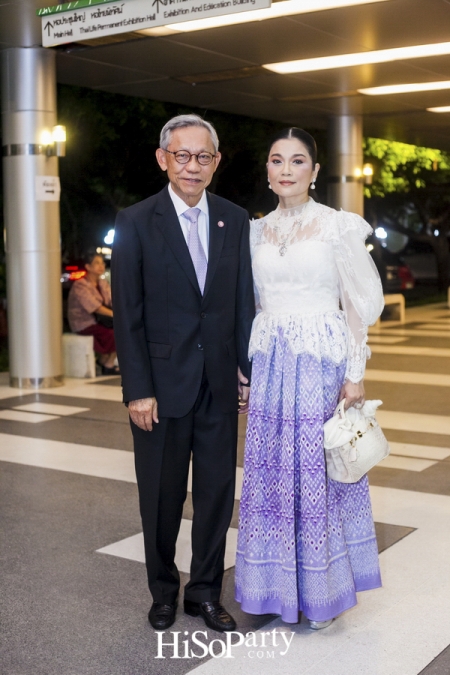
<path fill-rule="evenodd" d="M 380 277 L 364 240 L 363 218 L 309 199 L 278 207 L 250 227 L 257 316 L 249 357 L 267 353 L 272 336 L 294 354 L 334 363 L 347 359 L 346 379 L 364 377 L 367 328 L 383 309 Z"/>

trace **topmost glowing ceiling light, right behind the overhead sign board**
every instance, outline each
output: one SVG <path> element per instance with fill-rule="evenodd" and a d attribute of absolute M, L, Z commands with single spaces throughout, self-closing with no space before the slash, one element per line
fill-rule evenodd
<path fill-rule="evenodd" d="M 210 19 L 198 19 L 183 23 L 172 23 L 167 26 L 149 28 L 139 32 L 145 33 L 146 35 L 167 35 L 171 32 L 187 33 L 195 30 L 206 30 L 208 28 L 234 26 L 239 23 L 277 19 L 282 16 L 292 16 L 294 14 L 307 14 L 309 12 L 320 12 L 327 9 L 338 9 L 340 7 L 375 4 L 376 2 L 389 2 L 389 0 L 283 0 L 282 2 L 274 2 L 272 6 L 267 9 L 252 10 L 251 7 L 249 7 L 248 12 L 225 14 L 223 16 L 214 16 Z"/>

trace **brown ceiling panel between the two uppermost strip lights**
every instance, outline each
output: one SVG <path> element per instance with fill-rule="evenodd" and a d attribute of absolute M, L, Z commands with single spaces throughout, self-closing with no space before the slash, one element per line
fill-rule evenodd
<path fill-rule="evenodd" d="M 450 5 L 444 0 L 389 0 L 243 24 L 231 30 L 181 33 L 169 39 L 261 64 L 446 42 L 449 34 Z"/>

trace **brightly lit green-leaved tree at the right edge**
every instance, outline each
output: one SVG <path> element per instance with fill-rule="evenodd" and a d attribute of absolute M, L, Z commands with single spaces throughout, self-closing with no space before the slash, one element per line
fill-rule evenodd
<path fill-rule="evenodd" d="M 374 180 L 365 188 L 371 219 L 433 248 L 439 289 L 449 286 L 450 154 L 379 138 L 364 141 Z"/>

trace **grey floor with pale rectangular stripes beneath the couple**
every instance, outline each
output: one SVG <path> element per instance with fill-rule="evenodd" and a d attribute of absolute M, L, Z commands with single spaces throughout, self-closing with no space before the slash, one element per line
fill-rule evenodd
<path fill-rule="evenodd" d="M 240 419 L 224 583 L 224 604 L 242 635 L 233 644 L 180 610 L 164 637 L 147 622 L 119 378 L 71 380 L 34 394 L 10 389 L 0 375 L 2 674 L 449 675 L 449 333 L 444 305 L 408 310 L 404 326 L 371 333 L 367 397 L 384 402 L 379 420 L 392 450 L 370 472 L 383 588 L 360 594 L 326 631 L 251 617 L 234 603 Z M 191 518 L 188 495 L 177 548 L 183 582 Z"/>

